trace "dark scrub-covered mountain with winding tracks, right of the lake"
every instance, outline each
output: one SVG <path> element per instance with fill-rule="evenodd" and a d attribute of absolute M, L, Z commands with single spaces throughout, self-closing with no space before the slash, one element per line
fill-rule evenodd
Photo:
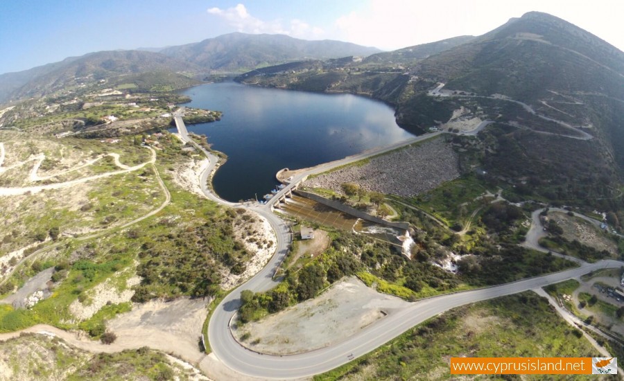
<path fill-rule="evenodd" d="M 618 204 L 624 172 L 624 53 L 539 12 L 451 42 L 241 80 L 367 94 L 393 105 L 397 123 L 418 133 L 495 121 L 476 139 L 456 139 L 463 170 L 482 168 L 527 197 L 617 209 L 607 204 Z"/>

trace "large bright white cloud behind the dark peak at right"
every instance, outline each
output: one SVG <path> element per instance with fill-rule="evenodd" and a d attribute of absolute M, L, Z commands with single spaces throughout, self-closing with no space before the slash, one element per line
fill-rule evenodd
<path fill-rule="evenodd" d="M 480 35 L 511 17 L 537 10 L 561 17 L 618 46 L 623 1 L 523 0 L 493 6 L 491 0 L 369 0 L 334 22 L 332 38 L 396 49 L 458 35 Z M 617 31 L 616 31 L 617 29 Z"/>

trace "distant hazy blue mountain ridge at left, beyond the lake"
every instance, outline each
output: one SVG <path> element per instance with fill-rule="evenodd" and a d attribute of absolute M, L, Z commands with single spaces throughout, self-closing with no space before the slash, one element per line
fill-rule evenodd
<path fill-rule="evenodd" d="M 296 60 L 367 56 L 379 49 L 348 42 L 306 41 L 286 35 L 230 33 L 195 44 L 135 51 L 101 51 L 0 75 L 0 103 L 51 94 L 85 82 L 128 74 L 236 72 Z"/>

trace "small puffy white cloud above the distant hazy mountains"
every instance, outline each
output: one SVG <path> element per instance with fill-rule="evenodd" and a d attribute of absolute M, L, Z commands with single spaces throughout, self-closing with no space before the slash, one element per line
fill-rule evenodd
<path fill-rule="evenodd" d="M 209 8 L 207 12 L 210 15 L 220 17 L 229 26 L 242 33 L 281 34 L 304 39 L 318 39 L 323 35 L 321 28 L 310 26 L 300 19 L 291 19 L 287 22 L 279 19 L 272 21 L 258 19 L 250 15 L 243 4 L 237 4 L 235 7 L 227 9 Z"/>

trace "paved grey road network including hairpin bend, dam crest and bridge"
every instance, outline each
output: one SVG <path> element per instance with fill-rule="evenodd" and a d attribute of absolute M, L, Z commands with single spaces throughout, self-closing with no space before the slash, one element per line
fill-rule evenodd
<path fill-rule="evenodd" d="M 174 114 L 175 124 L 180 136 L 184 141 L 189 142 L 198 150 L 203 152 L 210 161 L 209 166 L 205 168 L 205 171 L 202 172 L 202 175 L 200 176 L 202 181 L 202 190 L 205 195 L 210 200 L 214 200 L 220 204 L 241 207 L 259 213 L 270 222 L 272 228 L 275 229 L 277 236 L 277 249 L 266 267 L 252 277 L 247 283 L 230 292 L 216 307 L 209 321 L 208 337 L 214 355 L 216 355 L 216 357 L 218 357 L 223 364 L 228 366 L 230 369 L 241 373 L 241 375 L 279 380 L 306 378 L 346 364 L 347 362 L 352 361 L 355 357 L 364 355 L 365 353 L 368 353 L 385 344 L 391 339 L 394 339 L 409 328 L 412 328 L 413 326 L 420 324 L 426 319 L 429 319 L 437 314 L 450 310 L 451 308 L 456 308 L 460 305 L 468 303 L 475 303 L 477 301 L 493 299 L 499 296 L 534 290 L 539 287 L 544 287 L 545 285 L 565 281 L 569 278 L 575 278 L 597 269 L 621 267 L 621 265 L 624 265 L 623 262 L 618 260 L 601 260 L 597 263 L 585 263 L 577 260 L 579 265 L 578 267 L 563 272 L 527 278 L 513 283 L 485 287 L 478 290 L 444 294 L 417 301 L 408 308 L 395 314 L 391 314 L 388 317 L 363 328 L 363 330 L 359 331 L 356 335 L 349 337 L 349 339 L 326 348 L 300 353 L 297 355 L 283 356 L 266 355 L 250 351 L 236 342 L 230 330 L 232 319 L 234 319 L 234 315 L 241 305 L 241 291 L 252 290 L 253 292 L 261 292 L 270 290 L 270 288 L 277 285 L 278 281 L 275 281 L 272 276 L 275 274 L 275 270 L 286 255 L 288 246 L 291 244 L 292 240 L 286 223 L 272 213 L 273 203 L 279 200 L 281 195 L 288 193 L 288 191 L 297 186 L 309 175 L 325 172 L 331 168 L 336 168 L 337 166 L 343 166 L 348 163 L 353 163 L 354 161 L 372 157 L 376 154 L 395 150 L 404 145 L 429 139 L 433 136 L 441 134 L 442 132 L 417 136 L 413 139 L 409 139 L 408 141 L 390 145 L 389 147 L 369 150 L 361 154 L 356 154 L 352 157 L 346 157 L 345 159 L 309 168 L 308 170 L 300 172 L 290 184 L 281 189 L 279 193 L 267 202 L 267 204 L 245 206 L 243 204 L 236 204 L 221 200 L 219 197 L 214 195 L 214 193 L 211 193 L 208 190 L 207 179 L 214 171 L 218 158 L 189 139 L 186 126 L 184 125 L 184 121 L 182 121 L 183 112 L 184 109 L 181 109 L 180 112 Z"/>

